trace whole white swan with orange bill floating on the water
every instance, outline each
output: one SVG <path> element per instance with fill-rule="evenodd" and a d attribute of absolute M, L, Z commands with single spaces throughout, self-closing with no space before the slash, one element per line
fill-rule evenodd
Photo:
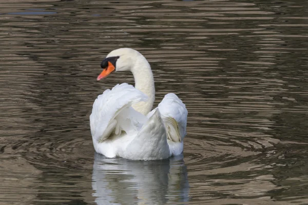
<path fill-rule="evenodd" d="M 174 93 L 157 108 L 151 67 L 136 50 L 120 48 L 102 61 L 101 80 L 113 72 L 130 71 L 135 86 L 127 83 L 107 89 L 93 103 L 90 128 L 93 146 L 106 157 L 133 160 L 166 159 L 183 152 L 187 109 Z"/>

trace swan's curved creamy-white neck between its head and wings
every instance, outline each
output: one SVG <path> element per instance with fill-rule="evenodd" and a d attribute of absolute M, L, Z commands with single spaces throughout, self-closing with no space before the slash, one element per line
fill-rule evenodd
<path fill-rule="evenodd" d="M 148 100 L 132 105 L 133 109 L 146 115 L 148 114 L 155 100 L 155 85 L 150 64 L 143 55 L 139 55 L 134 67 L 131 69 L 135 81 L 135 88 L 148 96 Z"/>

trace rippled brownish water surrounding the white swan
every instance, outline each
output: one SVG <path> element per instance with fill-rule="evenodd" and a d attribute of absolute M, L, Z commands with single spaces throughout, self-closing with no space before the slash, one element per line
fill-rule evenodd
<path fill-rule="evenodd" d="M 307 204 L 306 1 L 0 3 L 0 204 Z M 111 50 L 150 62 L 155 106 L 188 109 L 182 156 L 95 154 Z"/>

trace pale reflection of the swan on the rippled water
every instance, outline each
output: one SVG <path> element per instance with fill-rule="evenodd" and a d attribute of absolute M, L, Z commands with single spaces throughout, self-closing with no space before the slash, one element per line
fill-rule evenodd
<path fill-rule="evenodd" d="M 97 204 L 164 204 L 189 199 L 183 155 L 134 161 L 95 153 L 92 188 Z"/>

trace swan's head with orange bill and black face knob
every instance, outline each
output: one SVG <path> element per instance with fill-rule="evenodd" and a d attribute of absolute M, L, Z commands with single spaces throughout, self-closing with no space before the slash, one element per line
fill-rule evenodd
<path fill-rule="evenodd" d="M 101 63 L 103 71 L 97 80 L 107 77 L 112 72 L 131 71 L 138 56 L 143 57 L 142 54 L 131 48 L 120 48 L 111 51 Z"/>

